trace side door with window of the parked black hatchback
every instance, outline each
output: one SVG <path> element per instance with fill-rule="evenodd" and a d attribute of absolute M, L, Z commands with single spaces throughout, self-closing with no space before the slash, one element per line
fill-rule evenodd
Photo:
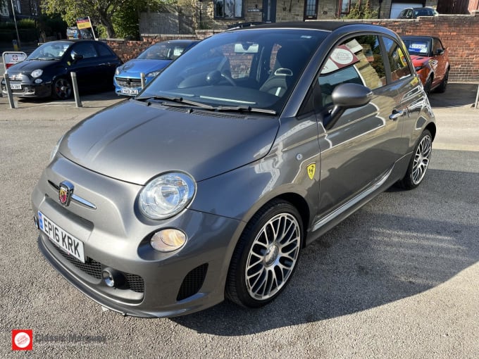
<path fill-rule="evenodd" d="M 75 56 L 80 56 L 75 58 Z M 70 50 L 70 72 L 77 74 L 77 84 L 80 89 L 96 87 L 97 79 L 104 70 L 99 66 L 101 58 L 95 49 L 94 42 L 85 41 L 73 44 Z"/>

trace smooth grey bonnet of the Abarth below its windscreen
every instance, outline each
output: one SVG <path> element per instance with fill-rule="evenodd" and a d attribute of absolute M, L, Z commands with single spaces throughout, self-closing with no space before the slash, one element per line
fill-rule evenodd
<path fill-rule="evenodd" d="M 256 114 L 255 114 L 256 116 Z M 59 153 L 89 170 L 146 184 L 183 171 L 201 181 L 266 156 L 278 118 L 123 101 L 78 123 Z"/>

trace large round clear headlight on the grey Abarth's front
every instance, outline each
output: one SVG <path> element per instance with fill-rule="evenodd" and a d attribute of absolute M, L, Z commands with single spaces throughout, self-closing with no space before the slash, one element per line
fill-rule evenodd
<path fill-rule="evenodd" d="M 152 220 L 163 220 L 183 210 L 194 196 L 196 184 L 182 172 L 160 175 L 142 189 L 139 209 Z"/>

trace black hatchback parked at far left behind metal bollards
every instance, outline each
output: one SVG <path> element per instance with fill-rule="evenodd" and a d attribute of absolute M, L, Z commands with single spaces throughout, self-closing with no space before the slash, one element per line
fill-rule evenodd
<path fill-rule="evenodd" d="M 68 99 L 71 75 L 77 74 L 80 90 L 110 88 L 122 61 L 104 42 L 93 40 L 54 41 L 39 46 L 25 61 L 8 68 L 13 96 Z M 1 91 L 6 94 L 5 80 Z"/>

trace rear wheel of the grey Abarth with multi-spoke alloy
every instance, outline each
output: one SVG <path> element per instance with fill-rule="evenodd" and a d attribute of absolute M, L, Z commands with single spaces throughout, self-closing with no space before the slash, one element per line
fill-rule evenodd
<path fill-rule="evenodd" d="M 428 170 L 431 153 L 433 151 L 433 136 L 429 130 L 424 130 L 418 143 L 414 147 L 413 156 L 406 175 L 399 184 L 404 189 L 413 189 L 423 182 L 425 172 Z"/>

